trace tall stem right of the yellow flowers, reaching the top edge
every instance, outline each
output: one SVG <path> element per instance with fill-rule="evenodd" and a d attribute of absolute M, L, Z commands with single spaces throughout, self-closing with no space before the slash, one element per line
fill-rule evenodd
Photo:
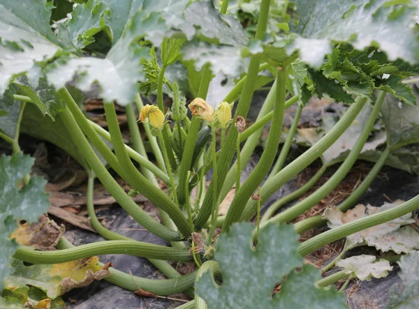
<path fill-rule="evenodd" d="M 267 27 L 267 19 L 269 15 L 269 8 L 270 8 L 270 0 L 262 0 L 260 5 L 260 13 L 258 19 L 258 26 L 256 29 L 256 40 L 261 40 L 265 36 L 266 27 Z M 253 97 L 253 92 L 255 89 L 256 81 L 258 79 L 258 70 L 259 70 L 260 61 L 257 56 L 251 56 L 249 62 L 249 69 L 247 70 L 247 78 L 244 82 L 242 95 L 240 96 L 239 104 L 237 105 L 237 110 L 235 112 L 235 117 L 243 116 L 246 118 L 247 112 L 249 112 L 249 107 L 251 103 L 251 98 Z M 229 130 L 227 135 L 226 144 L 228 145 L 235 145 L 237 140 L 237 130 Z M 221 156 L 218 160 L 218 188 L 216 188 L 217 192 L 220 192 L 221 188 L 223 187 L 224 180 L 226 179 L 226 175 L 228 169 L 231 164 L 231 160 L 233 160 L 233 156 L 235 153 L 235 147 L 228 147 L 221 153 Z M 212 186 L 212 183 L 210 187 Z M 212 190 L 212 188 L 209 188 Z M 211 209 L 212 209 L 212 195 L 208 194 L 205 196 L 203 206 L 196 217 L 194 222 L 195 229 L 199 230 L 207 223 L 208 218 L 211 216 Z"/>

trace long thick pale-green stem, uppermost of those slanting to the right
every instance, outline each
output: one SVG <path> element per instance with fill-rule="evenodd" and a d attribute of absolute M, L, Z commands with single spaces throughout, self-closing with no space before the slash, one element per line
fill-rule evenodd
<path fill-rule="evenodd" d="M 367 98 L 358 97 L 355 102 L 348 108 L 344 116 L 337 122 L 337 124 L 325 136 L 321 138 L 310 149 L 305 151 L 292 163 L 288 164 L 278 174 L 266 181 L 262 187 L 262 202 L 265 202 L 272 194 L 274 194 L 281 186 L 293 178 L 296 174 L 302 171 L 305 167 L 316 160 L 323 152 L 326 151 L 336 140 L 344 133 L 344 131 L 355 120 L 356 116 L 362 110 Z M 256 212 L 257 203 L 249 201 L 242 216 L 242 220 L 248 221 Z"/>

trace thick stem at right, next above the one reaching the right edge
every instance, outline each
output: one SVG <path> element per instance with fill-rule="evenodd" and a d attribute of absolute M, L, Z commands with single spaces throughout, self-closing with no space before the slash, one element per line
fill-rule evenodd
<path fill-rule="evenodd" d="M 358 188 L 356 188 L 355 191 L 353 191 L 353 193 L 351 193 L 351 195 L 349 195 L 349 197 L 339 205 L 340 211 L 348 211 L 348 209 L 351 209 L 351 207 L 354 206 L 356 202 L 358 202 L 358 199 L 360 199 L 362 194 L 368 190 L 372 181 L 376 179 L 376 176 L 381 171 L 381 168 L 385 164 L 385 161 L 388 159 L 388 156 L 390 156 L 390 153 L 390 148 L 386 148 L 383 153 L 381 153 L 380 158 L 378 158 L 376 164 L 374 164 L 374 167 L 372 167 L 371 171 L 369 171 L 367 177 L 365 177 L 362 183 L 360 183 L 360 186 L 358 186 Z M 308 231 L 309 229 L 314 229 L 315 227 L 325 226 L 327 222 L 328 221 L 324 220 L 322 216 L 314 216 L 296 223 L 294 227 L 297 233 L 302 233 Z"/>

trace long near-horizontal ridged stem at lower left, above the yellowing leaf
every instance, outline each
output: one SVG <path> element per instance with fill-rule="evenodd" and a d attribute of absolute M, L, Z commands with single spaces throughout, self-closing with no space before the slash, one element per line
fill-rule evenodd
<path fill-rule="evenodd" d="M 150 259 L 168 259 L 177 262 L 191 262 L 188 250 L 179 250 L 166 246 L 143 243 L 141 241 L 98 241 L 58 251 L 36 251 L 29 247 L 19 247 L 16 259 L 34 264 L 57 264 L 93 257 L 94 255 L 134 255 Z"/>

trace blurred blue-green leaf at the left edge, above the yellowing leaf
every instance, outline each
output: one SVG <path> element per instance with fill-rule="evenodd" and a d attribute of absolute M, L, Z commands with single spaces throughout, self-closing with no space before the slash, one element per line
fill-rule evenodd
<path fill-rule="evenodd" d="M 17 228 L 17 220 L 36 222 L 50 204 L 44 191 L 46 181 L 40 176 L 32 176 L 27 186 L 17 188 L 24 174 L 31 172 L 33 164 L 33 158 L 21 153 L 0 158 L 0 289 L 3 277 L 10 273 L 10 258 L 17 247 L 8 238 Z"/>

